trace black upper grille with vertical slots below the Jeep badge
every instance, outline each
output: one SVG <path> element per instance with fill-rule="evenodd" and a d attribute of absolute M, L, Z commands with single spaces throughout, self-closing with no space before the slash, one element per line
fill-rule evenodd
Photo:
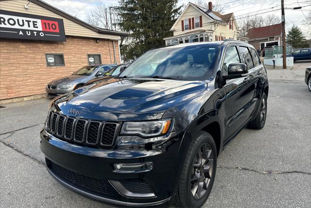
<path fill-rule="evenodd" d="M 47 127 L 59 139 L 103 148 L 113 146 L 119 123 L 73 118 L 51 111 Z"/>

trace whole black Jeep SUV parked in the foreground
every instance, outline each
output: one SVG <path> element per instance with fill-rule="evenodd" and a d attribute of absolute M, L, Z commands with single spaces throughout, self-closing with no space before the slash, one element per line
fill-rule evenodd
<path fill-rule="evenodd" d="M 202 206 L 217 156 L 266 120 L 268 80 L 239 41 L 146 52 L 118 77 L 55 98 L 41 150 L 69 189 L 126 206 Z M 169 204 L 169 203 L 166 203 Z"/>

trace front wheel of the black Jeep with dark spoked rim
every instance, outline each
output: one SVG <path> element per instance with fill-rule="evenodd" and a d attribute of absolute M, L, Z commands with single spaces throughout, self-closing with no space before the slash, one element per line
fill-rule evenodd
<path fill-rule="evenodd" d="M 217 149 L 210 134 L 200 131 L 192 139 L 173 202 L 176 207 L 199 208 L 212 189 L 217 165 Z"/>

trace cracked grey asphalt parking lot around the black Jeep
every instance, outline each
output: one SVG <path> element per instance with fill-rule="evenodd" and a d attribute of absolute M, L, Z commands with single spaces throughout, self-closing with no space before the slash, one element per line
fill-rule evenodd
<path fill-rule="evenodd" d="M 243 129 L 218 157 L 205 207 L 311 205 L 311 93 L 304 70 L 268 75 L 266 125 Z M 66 189 L 46 171 L 39 132 L 50 101 L 0 109 L 0 207 L 115 207 Z"/>

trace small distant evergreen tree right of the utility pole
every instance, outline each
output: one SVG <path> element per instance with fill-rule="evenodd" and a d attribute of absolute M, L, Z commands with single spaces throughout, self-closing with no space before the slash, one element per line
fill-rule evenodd
<path fill-rule="evenodd" d="M 303 35 L 300 28 L 293 25 L 286 35 L 286 42 L 292 45 L 294 48 L 308 47 L 306 43 L 306 37 Z"/>

